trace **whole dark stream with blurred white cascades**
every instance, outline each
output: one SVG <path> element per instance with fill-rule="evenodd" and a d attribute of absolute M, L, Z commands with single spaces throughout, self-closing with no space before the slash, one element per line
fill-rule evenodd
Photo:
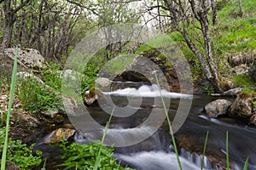
<path fill-rule="evenodd" d="M 105 141 L 106 144 L 114 143 L 118 146 L 115 148 L 113 156 L 120 161 L 121 165 L 136 169 L 177 170 L 177 158 L 173 150 L 169 128 L 166 121 L 161 122 L 161 116 L 165 112 L 159 100 L 155 100 L 160 99 L 159 88 L 155 85 L 143 85 L 138 82 L 116 83 L 122 89 L 104 94 L 110 96 L 113 103 L 119 108 L 125 107 L 129 111 L 133 111 L 133 114 L 126 117 L 125 115 L 113 116 Z M 230 166 L 233 169 L 242 169 L 248 156 L 248 169 L 256 169 L 256 129 L 247 127 L 245 122 L 239 122 L 229 117 L 210 119 L 202 114 L 207 103 L 214 99 L 224 99 L 224 97 L 169 93 L 165 89 L 161 89 L 161 94 L 165 99 L 171 99 L 170 103 L 167 102 L 170 105 L 168 114 L 171 116 L 171 120 L 177 114 L 179 102 L 182 99 L 185 99 L 184 101 L 187 99 L 188 102 L 190 99 L 193 100 L 186 121 L 175 133 L 177 144 L 180 146 L 178 151 L 184 170 L 201 168 L 201 153 L 207 131 L 209 139 L 204 169 L 222 169 L 225 166 L 227 131 L 229 132 Z M 142 96 L 143 98 L 141 98 Z M 234 101 L 231 98 L 226 99 Z M 131 101 L 132 105 L 130 105 Z M 105 106 L 108 107 L 108 105 Z M 108 122 L 109 115 L 102 108 L 90 108 L 89 112 L 90 116 L 99 124 L 104 126 Z M 151 115 L 154 116 L 148 118 Z M 91 120 L 80 116 L 73 117 L 73 120 L 78 124 L 88 126 L 92 124 Z M 159 120 L 159 122 L 154 122 L 154 120 Z M 96 128 L 96 130 L 90 131 L 88 128 L 83 129 L 83 126 L 79 127 L 80 132 L 75 134 L 74 140 L 78 143 L 88 143 L 94 139 L 101 139 L 103 128 Z M 143 140 L 140 141 L 140 139 Z"/>

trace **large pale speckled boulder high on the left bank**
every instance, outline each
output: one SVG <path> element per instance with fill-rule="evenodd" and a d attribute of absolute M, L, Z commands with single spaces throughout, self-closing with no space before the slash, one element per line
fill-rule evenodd
<path fill-rule="evenodd" d="M 15 59 L 16 48 L 6 48 L 3 50 L 9 59 Z M 19 65 L 26 69 L 38 70 L 44 66 L 44 57 L 33 48 L 17 48 L 17 61 Z"/>

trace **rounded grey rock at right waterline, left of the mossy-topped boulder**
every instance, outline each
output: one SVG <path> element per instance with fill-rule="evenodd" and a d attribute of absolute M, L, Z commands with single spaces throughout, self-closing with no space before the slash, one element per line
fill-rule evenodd
<path fill-rule="evenodd" d="M 228 113 L 232 103 L 226 99 L 217 99 L 205 106 L 205 111 L 210 117 L 217 117 Z"/>

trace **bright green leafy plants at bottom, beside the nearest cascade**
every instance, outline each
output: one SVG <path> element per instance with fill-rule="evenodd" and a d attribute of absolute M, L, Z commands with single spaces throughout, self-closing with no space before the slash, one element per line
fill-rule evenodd
<path fill-rule="evenodd" d="M 61 159 L 64 162 L 60 167 L 64 169 L 93 169 L 96 163 L 97 150 L 100 146 L 100 142 L 94 142 L 91 144 L 77 144 L 73 143 L 68 145 L 67 141 L 62 141 L 60 147 L 62 149 Z M 99 169 L 131 169 L 120 167 L 116 160 L 112 157 L 113 147 L 108 148 L 102 146 L 101 150 L 101 163 Z"/>

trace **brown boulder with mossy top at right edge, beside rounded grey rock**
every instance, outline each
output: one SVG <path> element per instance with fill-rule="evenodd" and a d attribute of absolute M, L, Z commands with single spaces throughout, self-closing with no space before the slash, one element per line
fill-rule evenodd
<path fill-rule="evenodd" d="M 256 114 L 253 102 L 256 101 L 255 92 L 242 91 L 230 107 L 230 116 L 249 118 Z"/>

